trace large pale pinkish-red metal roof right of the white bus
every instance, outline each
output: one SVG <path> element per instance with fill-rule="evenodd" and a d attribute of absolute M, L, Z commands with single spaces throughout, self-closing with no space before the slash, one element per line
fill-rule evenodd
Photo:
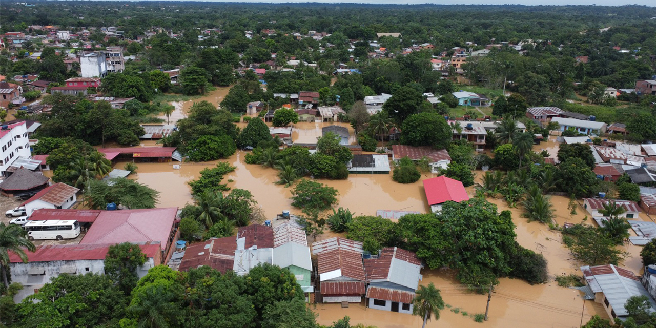
<path fill-rule="evenodd" d="M 160 241 L 167 247 L 177 207 L 102 211 L 80 244 Z"/>

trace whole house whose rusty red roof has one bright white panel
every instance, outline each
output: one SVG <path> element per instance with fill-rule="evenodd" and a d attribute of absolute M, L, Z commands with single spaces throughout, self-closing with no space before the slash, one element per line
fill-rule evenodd
<path fill-rule="evenodd" d="M 333 237 L 312 244 L 317 256 L 319 302 L 359 303 L 365 295 L 365 269 L 362 243 Z"/>

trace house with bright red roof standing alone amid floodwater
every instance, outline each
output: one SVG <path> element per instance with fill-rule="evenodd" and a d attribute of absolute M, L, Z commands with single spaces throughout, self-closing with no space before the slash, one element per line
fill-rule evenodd
<path fill-rule="evenodd" d="M 440 213 L 442 211 L 443 203 L 447 201 L 468 201 L 469 195 L 464 190 L 462 182 L 447 178 L 446 176 L 436 176 L 423 180 L 424 192 L 426 192 L 426 201 L 433 213 Z"/>

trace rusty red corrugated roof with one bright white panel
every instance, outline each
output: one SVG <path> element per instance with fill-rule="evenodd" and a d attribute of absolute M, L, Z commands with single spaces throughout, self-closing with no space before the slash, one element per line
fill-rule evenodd
<path fill-rule="evenodd" d="M 317 270 L 321 281 L 335 277 L 365 281 L 362 251 L 361 242 L 342 237 L 314 243 L 312 253 L 317 255 Z"/>

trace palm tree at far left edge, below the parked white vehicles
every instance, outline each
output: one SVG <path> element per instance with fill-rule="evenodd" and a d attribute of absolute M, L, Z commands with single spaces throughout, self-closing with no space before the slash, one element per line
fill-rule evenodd
<path fill-rule="evenodd" d="M 5 288 L 9 287 L 7 281 L 7 270 L 9 270 L 9 251 L 18 255 L 23 263 L 28 262 L 28 255 L 25 254 L 24 249 L 33 252 L 36 250 L 34 244 L 26 239 L 28 232 L 17 224 L 9 224 L 5 226 L 4 222 L 0 222 L 0 271 L 2 272 L 2 282 Z"/>

